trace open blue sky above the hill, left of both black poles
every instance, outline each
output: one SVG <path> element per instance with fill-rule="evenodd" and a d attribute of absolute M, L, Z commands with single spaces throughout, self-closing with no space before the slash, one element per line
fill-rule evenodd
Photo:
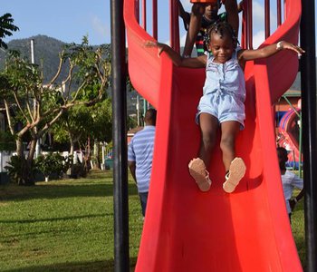
<path fill-rule="evenodd" d="M 20 31 L 5 38 L 29 38 L 44 34 L 65 43 L 110 43 L 110 0 L 7 0 L 1 1 L 0 14 L 10 13 Z"/>

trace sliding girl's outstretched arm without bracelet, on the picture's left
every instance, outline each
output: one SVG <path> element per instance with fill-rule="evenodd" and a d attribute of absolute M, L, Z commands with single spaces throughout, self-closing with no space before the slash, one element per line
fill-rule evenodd
<path fill-rule="evenodd" d="M 202 55 L 197 58 L 184 58 L 179 53 L 174 51 L 168 44 L 160 44 L 158 42 L 147 41 L 145 43 L 146 47 L 157 47 L 159 49 L 158 56 L 161 53 L 165 52 L 168 54 L 168 57 L 176 66 L 188 67 L 188 68 L 203 68 L 206 67 L 207 56 Z"/>

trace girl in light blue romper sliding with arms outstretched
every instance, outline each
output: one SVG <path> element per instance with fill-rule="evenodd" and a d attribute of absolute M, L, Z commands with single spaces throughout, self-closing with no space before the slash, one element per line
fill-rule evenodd
<path fill-rule="evenodd" d="M 220 149 L 226 169 L 223 188 L 227 193 L 235 190 L 245 176 L 245 162 L 235 157 L 235 139 L 244 129 L 245 121 L 245 62 L 269 57 L 282 50 L 304 53 L 294 44 L 280 41 L 261 49 L 244 50 L 237 47 L 237 38 L 230 24 L 213 24 L 207 33 L 208 49 L 211 53 L 196 58 L 183 58 L 167 44 L 148 41 L 146 46 L 157 47 L 177 66 L 189 68 L 206 67 L 206 81 L 203 96 L 197 107 L 196 121 L 201 131 L 198 158 L 189 162 L 190 175 L 202 191 L 210 189 L 211 180 L 207 168 L 211 152 L 216 144 L 216 133 L 221 130 Z"/>

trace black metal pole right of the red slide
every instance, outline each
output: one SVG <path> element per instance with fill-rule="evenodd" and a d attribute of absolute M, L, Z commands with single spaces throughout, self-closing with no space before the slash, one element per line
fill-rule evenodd
<path fill-rule="evenodd" d="M 301 61 L 303 110 L 303 181 L 305 188 L 305 240 L 307 272 L 317 271 L 317 93 L 314 1 L 302 0 Z"/>

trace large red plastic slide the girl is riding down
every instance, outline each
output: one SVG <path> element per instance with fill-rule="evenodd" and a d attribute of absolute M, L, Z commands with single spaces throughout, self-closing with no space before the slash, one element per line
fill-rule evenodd
<path fill-rule="evenodd" d="M 137 23 L 134 0 L 125 0 L 130 79 L 158 109 L 147 215 L 136 271 L 303 271 L 286 214 L 275 152 L 272 104 L 293 83 L 297 55 L 282 52 L 245 68 L 245 130 L 236 142 L 245 178 L 232 194 L 222 189 L 219 148 L 209 169 L 208 192 L 197 189 L 187 163 L 197 155 L 197 103 L 203 69 L 175 67 L 167 55 L 145 48 L 153 40 Z M 300 0 L 286 0 L 287 20 L 264 44 L 297 43 Z"/>

